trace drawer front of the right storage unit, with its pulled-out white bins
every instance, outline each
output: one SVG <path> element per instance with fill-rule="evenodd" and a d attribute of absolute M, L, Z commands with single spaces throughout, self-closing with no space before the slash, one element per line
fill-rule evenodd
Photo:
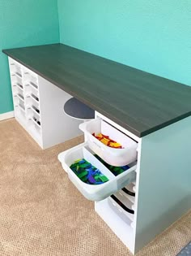
<path fill-rule="evenodd" d="M 96 119 L 87 121 L 79 125 L 83 130 L 85 142 L 70 150 L 66 150 L 58 155 L 62 167 L 68 173 L 69 179 L 73 182 L 80 193 L 89 200 L 95 201 L 96 211 L 108 226 L 112 228 L 117 236 L 128 236 L 128 247 L 134 252 L 135 244 L 135 218 L 136 211 L 135 184 L 138 157 L 138 141 L 131 137 L 130 132 L 125 132 L 117 124 L 96 112 Z M 108 135 L 124 148 L 114 149 L 98 141 L 92 133 L 103 133 Z M 129 164 L 129 169 L 118 176 L 114 176 L 100 161 L 94 156 L 98 154 L 106 163 L 115 166 Z M 108 177 L 108 182 L 94 185 L 85 184 L 70 169 L 70 165 L 75 160 L 85 158 L 92 165 L 100 169 Z M 113 199 L 115 198 L 115 200 Z M 111 217 L 112 216 L 112 217 Z M 123 229 L 125 228 L 125 232 Z"/>

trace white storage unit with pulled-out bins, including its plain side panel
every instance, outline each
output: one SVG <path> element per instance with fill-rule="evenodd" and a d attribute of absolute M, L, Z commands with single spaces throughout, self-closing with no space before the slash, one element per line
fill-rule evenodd
<path fill-rule="evenodd" d="M 191 206 L 189 196 L 187 201 L 186 198 L 182 201 L 180 199 L 183 194 L 186 197 L 190 193 L 188 162 L 181 162 L 181 170 L 187 168 L 188 171 L 184 184 L 180 184 L 179 180 L 183 180 L 183 177 L 181 171 L 176 171 L 177 162 L 174 158 L 183 149 L 187 149 L 184 152 L 189 158 L 191 145 L 186 140 L 189 136 L 189 125 L 190 117 L 140 138 L 96 112 L 95 120 L 80 124 L 85 143 L 58 156 L 70 180 L 87 199 L 95 201 L 98 215 L 133 254 L 164 228 L 168 228 L 177 216 Z M 93 132 L 110 135 L 112 139 L 125 145 L 124 149 L 117 149 L 119 151 L 112 154 L 113 149 L 93 137 Z M 175 145 L 174 137 L 178 146 Z M 125 144 L 125 141 L 129 141 L 129 144 Z M 84 150 L 88 155 L 84 154 Z M 93 154 L 99 154 L 109 164 L 116 163 L 119 166 L 120 163 L 130 163 L 131 167 L 119 176 L 112 176 Z M 134 157 L 131 158 L 131 155 Z M 70 169 L 70 164 L 83 157 L 104 170 L 109 181 L 101 185 L 91 185 L 79 180 Z M 185 193 L 180 196 L 177 188 L 183 187 Z M 179 202 L 180 207 L 174 210 L 176 202 Z"/>

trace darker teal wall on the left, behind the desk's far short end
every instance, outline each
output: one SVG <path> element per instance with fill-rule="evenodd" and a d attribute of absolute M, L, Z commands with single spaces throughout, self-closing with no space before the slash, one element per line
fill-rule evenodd
<path fill-rule="evenodd" d="M 2 49 L 58 41 L 57 0 L 0 0 L 0 114 L 13 110 L 8 63 Z"/>

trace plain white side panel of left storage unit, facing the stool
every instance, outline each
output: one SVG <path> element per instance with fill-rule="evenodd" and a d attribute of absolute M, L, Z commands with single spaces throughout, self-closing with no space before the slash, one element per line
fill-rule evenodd
<path fill-rule="evenodd" d="M 81 135 L 79 124 L 83 121 L 70 118 L 63 111 L 65 102 L 71 98 L 70 94 L 41 76 L 38 80 L 43 149 Z"/>

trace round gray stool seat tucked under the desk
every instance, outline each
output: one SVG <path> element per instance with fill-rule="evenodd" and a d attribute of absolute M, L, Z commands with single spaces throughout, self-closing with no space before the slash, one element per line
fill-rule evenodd
<path fill-rule="evenodd" d="M 94 119 L 95 111 L 91 107 L 79 102 L 76 98 L 70 98 L 64 105 L 66 115 L 75 119 Z"/>

